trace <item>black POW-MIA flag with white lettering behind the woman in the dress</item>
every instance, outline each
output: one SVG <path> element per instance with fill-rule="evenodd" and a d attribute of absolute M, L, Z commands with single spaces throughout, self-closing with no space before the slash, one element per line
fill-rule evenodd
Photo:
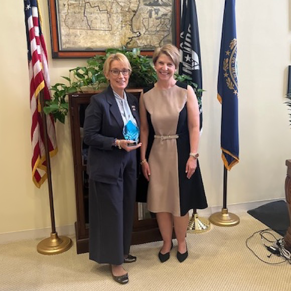
<path fill-rule="evenodd" d="M 192 78 L 197 84 L 196 92 L 200 111 L 200 130 L 202 128 L 202 69 L 200 56 L 200 42 L 195 0 L 183 0 L 182 17 L 180 24 L 180 64 L 179 74 Z"/>

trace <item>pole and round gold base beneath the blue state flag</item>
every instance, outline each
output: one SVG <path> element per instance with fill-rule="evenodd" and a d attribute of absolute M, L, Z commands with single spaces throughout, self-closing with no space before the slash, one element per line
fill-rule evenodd
<path fill-rule="evenodd" d="M 235 226 L 239 224 L 239 217 L 233 213 L 229 213 L 226 207 L 226 192 L 227 192 L 227 169 L 224 167 L 223 173 L 223 208 L 221 212 L 216 212 L 210 215 L 211 223 L 218 226 Z"/>

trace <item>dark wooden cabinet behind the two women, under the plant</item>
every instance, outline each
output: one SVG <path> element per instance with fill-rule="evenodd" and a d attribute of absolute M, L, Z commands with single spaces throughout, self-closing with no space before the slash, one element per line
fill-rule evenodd
<path fill-rule="evenodd" d="M 134 94 L 137 98 L 142 92 L 141 89 L 127 89 L 126 91 Z M 77 253 L 87 252 L 89 248 L 88 175 L 86 173 L 88 146 L 83 142 L 83 123 L 85 109 L 93 94 L 96 94 L 96 92 L 69 95 L 77 207 L 77 221 L 75 222 Z M 144 203 L 136 203 L 132 244 L 162 239 L 156 219 L 151 218 L 151 215 L 145 209 Z"/>

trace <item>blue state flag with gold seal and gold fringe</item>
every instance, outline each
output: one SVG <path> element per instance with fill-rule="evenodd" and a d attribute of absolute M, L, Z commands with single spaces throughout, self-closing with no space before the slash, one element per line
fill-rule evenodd
<path fill-rule="evenodd" d="M 225 0 L 217 98 L 221 103 L 221 150 L 227 170 L 239 162 L 235 0 Z"/>

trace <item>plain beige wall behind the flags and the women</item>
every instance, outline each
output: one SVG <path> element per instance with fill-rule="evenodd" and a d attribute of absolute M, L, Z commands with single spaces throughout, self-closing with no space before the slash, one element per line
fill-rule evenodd
<path fill-rule="evenodd" d="M 290 64 L 287 0 L 237 0 L 240 163 L 228 175 L 228 204 L 284 197 L 291 130 L 283 104 Z M 84 60 L 52 60 L 47 0 L 40 0 L 51 83 Z M 200 163 L 210 206 L 222 204 L 220 104 L 216 99 L 223 0 L 196 0 L 203 65 Z M 31 116 L 23 1 L 0 10 L 0 233 L 50 227 L 47 183 L 31 179 Z M 57 226 L 76 218 L 69 120 L 57 123 L 59 153 L 51 161 Z"/>

